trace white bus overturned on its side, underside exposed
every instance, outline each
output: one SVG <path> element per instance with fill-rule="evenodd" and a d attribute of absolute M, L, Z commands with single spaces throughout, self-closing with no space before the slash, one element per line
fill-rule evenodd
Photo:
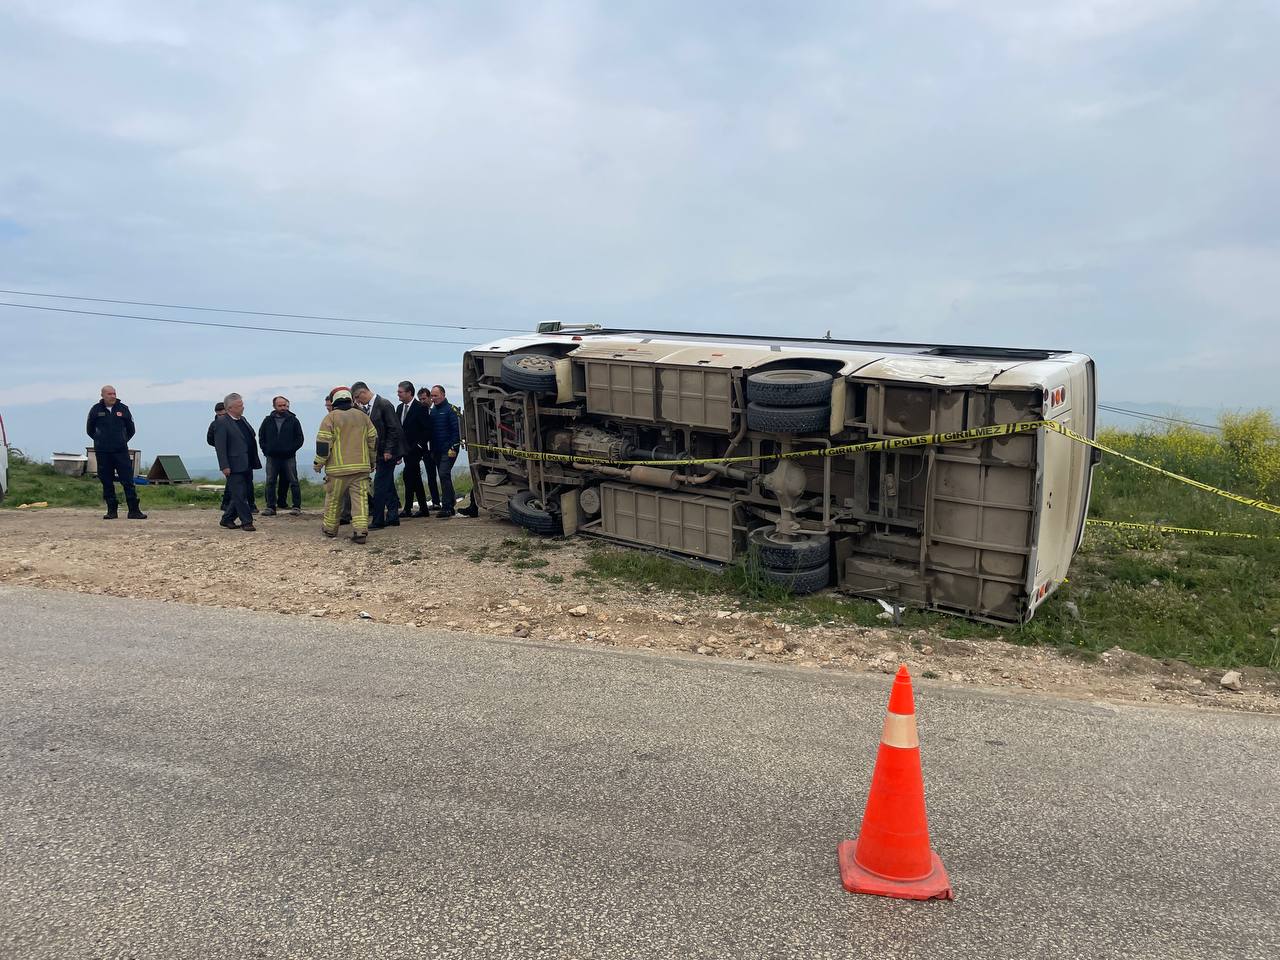
<path fill-rule="evenodd" d="M 1097 457 L 1043 426 L 1093 435 L 1074 351 L 552 323 L 462 388 L 476 506 L 535 534 L 996 623 L 1084 536 Z"/>

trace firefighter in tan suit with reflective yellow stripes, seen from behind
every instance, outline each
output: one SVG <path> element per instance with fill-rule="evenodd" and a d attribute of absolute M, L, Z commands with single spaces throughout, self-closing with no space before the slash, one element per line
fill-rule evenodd
<path fill-rule="evenodd" d="M 389 406 L 389 404 L 388 404 Z M 369 471 L 378 454 L 378 430 L 351 403 L 351 390 L 335 387 L 333 410 L 320 421 L 316 458 L 311 465 L 324 479 L 324 535 L 338 535 L 338 513 L 351 497 L 351 539 L 369 538 Z"/>

